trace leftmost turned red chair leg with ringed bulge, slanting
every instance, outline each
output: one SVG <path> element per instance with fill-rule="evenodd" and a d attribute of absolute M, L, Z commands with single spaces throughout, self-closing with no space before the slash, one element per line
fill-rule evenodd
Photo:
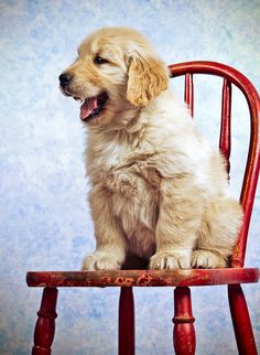
<path fill-rule="evenodd" d="M 45 288 L 42 303 L 37 312 L 39 319 L 34 330 L 34 346 L 32 355 L 51 355 L 52 343 L 55 333 L 55 319 L 57 302 L 57 289 Z"/>

